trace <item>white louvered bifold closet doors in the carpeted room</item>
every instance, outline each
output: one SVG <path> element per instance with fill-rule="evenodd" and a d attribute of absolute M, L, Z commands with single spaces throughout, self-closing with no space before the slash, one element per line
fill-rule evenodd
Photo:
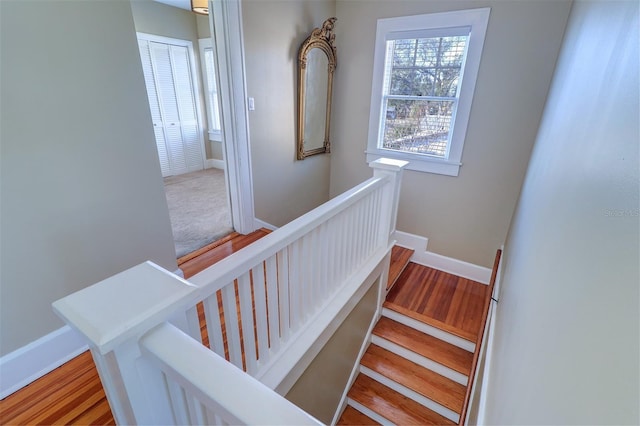
<path fill-rule="evenodd" d="M 156 97 L 149 95 L 154 120 L 156 144 L 162 165 L 163 155 L 168 170 L 163 166 L 163 176 L 202 170 L 203 158 L 200 131 L 196 112 L 196 98 L 191 80 L 191 66 L 187 47 L 148 41 L 148 56 Z M 141 50 L 143 47 L 141 45 Z M 142 52 L 141 52 L 142 56 Z M 142 59 L 143 63 L 145 59 Z M 143 64 L 144 66 L 144 64 Z M 145 73 L 145 79 L 147 75 Z M 147 91 L 151 93 L 150 84 Z M 157 108 L 153 105 L 154 101 Z M 166 154 L 163 154 L 163 150 Z"/>

